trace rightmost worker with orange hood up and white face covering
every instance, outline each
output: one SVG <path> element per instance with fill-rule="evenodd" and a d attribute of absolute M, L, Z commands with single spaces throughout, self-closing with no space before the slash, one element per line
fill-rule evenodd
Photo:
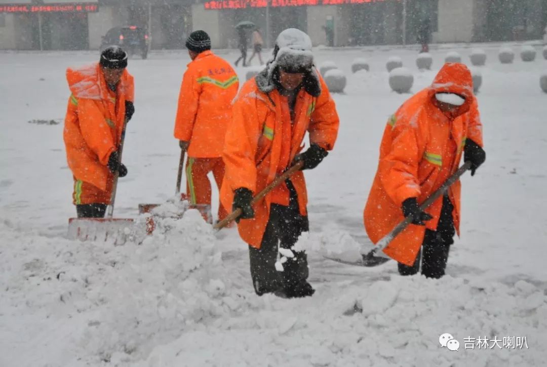
<path fill-rule="evenodd" d="M 374 243 L 404 217 L 414 218 L 384 249 L 398 261 L 401 275 L 417 273 L 420 258 L 423 275 L 444 275 L 455 229 L 459 235 L 461 183 L 458 180 L 425 211 L 418 203 L 457 170 L 462 153 L 464 161 L 472 163 L 473 176 L 486 159 L 473 80 L 465 65 L 447 63 L 431 86 L 389 118 L 364 210 L 365 229 Z"/>

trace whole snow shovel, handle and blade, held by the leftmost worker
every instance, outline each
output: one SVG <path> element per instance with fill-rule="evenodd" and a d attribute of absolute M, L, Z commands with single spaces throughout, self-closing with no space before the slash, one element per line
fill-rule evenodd
<path fill-rule="evenodd" d="M 118 147 L 118 163 L 121 164 L 121 153 L 124 149 L 125 129 L 127 119 L 124 121 L 124 127 L 121 130 L 120 145 Z M 106 241 L 108 238 L 114 238 L 115 243 L 125 242 L 125 229 L 133 224 L 131 218 L 113 218 L 114 202 L 116 200 L 116 191 L 118 188 L 119 172 L 114 172 L 114 182 L 112 185 L 112 196 L 110 205 L 107 209 L 106 218 L 69 218 L 68 219 L 68 237 L 79 240 Z"/>

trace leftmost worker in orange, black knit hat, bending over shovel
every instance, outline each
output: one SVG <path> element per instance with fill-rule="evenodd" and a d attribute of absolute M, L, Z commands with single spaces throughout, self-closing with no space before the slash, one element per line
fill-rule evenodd
<path fill-rule="evenodd" d="M 74 177 L 73 203 L 78 218 L 102 218 L 110 203 L 114 172 L 127 174 L 118 161 L 124 120 L 131 119 L 133 77 L 127 72 L 127 54 L 109 46 L 99 62 L 66 75 L 68 98 L 63 138 L 68 167 Z"/>

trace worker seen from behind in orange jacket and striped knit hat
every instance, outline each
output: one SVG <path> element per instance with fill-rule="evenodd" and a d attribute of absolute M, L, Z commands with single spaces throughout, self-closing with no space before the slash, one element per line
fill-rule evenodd
<path fill-rule="evenodd" d="M 179 140 L 181 149 L 188 152 L 186 178 L 190 204 L 211 219 L 207 214 L 211 211 L 211 183 L 207 173 L 213 172 L 220 188 L 224 177 L 221 157 L 224 135 L 232 118 L 231 103 L 239 81 L 230 64 L 213 54 L 206 32 L 190 33 L 186 46 L 192 61 L 182 80 L 174 137 Z M 226 215 L 226 209 L 219 204 L 218 219 Z"/>

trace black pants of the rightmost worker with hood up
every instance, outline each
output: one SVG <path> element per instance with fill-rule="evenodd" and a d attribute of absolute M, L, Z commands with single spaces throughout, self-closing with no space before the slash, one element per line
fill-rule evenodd
<path fill-rule="evenodd" d="M 420 259 L 422 260 L 422 274 L 428 278 L 440 278 L 445 275 L 446 263 L 450 245 L 454 243 L 453 237 L 456 233 L 452 210 L 454 206 L 448 196 L 443 197 L 443 207 L 437 230 L 426 229 L 423 237 L 421 251 L 416 255 L 414 265 L 408 266 L 399 263 L 400 275 L 414 275 L 420 270 Z"/>

